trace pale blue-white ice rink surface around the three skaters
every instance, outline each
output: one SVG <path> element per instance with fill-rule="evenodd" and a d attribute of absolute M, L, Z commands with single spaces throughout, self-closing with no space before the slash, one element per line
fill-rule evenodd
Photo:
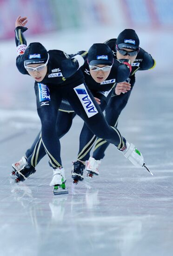
<path fill-rule="evenodd" d="M 79 36 L 82 47 L 76 37 L 80 48 L 71 41 L 72 52 L 93 44 L 95 38 L 85 36 Z M 160 39 L 159 33 L 151 34 L 145 40 L 145 34 L 140 34 L 141 47 L 158 65 L 136 73 L 131 98 L 119 121 L 122 135 L 139 148 L 153 176 L 145 168 L 134 167 L 110 145 L 100 175 L 92 180 L 85 177 L 73 185 L 72 162 L 77 157 L 82 127 L 76 117 L 61 139 L 69 194 L 56 196 L 49 187 L 52 170 L 47 156 L 27 181 L 14 184 L 10 178 L 11 164 L 30 147 L 40 121 L 33 80 L 19 74 L 15 67 L 14 41 L 1 43 L 0 256 L 173 255 L 172 59 L 154 43 L 158 39 L 168 42 L 169 36 L 165 36 L 167 40 Z M 97 42 L 113 34 L 106 37 L 97 36 Z M 54 39 L 54 44 L 47 38 L 40 38 L 40 42 L 51 49 Z M 61 35 L 56 48 L 70 53 L 66 39 L 67 34 Z M 10 52 L 12 61 L 3 55 L 4 49 Z"/>

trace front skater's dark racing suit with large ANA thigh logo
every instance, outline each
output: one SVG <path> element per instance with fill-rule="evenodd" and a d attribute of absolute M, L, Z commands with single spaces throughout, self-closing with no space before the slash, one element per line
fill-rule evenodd
<path fill-rule="evenodd" d="M 24 44 L 23 41 L 25 41 L 26 45 L 26 40 L 22 40 L 22 42 L 20 40 L 21 38 L 24 39 L 22 32 L 25 30 L 23 27 L 15 29 L 18 50 L 21 50 L 20 46 Z M 16 66 L 20 73 L 28 74 L 24 67 L 24 50 L 22 49 L 22 52 L 19 52 Z M 42 142 L 49 156 L 50 165 L 53 168 L 62 166 L 60 141 L 57 138 L 56 130 L 57 110 L 60 108 L 62 98 L 67 99 L 73 110 L 85 121 L 93 134 L 113 143 L 119 149 L 124 148 L 126 144 L 125 138 L 120 135 L 116 128 L 112 128 L 107 124 L 93 94 L 85 84 L 80 66 L 82 63 L 81 56 L 86 54 L 82 52 L 72 58 L 60 50 L 50 50 L 48 54 L 47 74 L 41 82 L 35 81 L 34 84 L 37 112 L 41 121 L 41 137 L 35 148 L 39 147 Z"/>

